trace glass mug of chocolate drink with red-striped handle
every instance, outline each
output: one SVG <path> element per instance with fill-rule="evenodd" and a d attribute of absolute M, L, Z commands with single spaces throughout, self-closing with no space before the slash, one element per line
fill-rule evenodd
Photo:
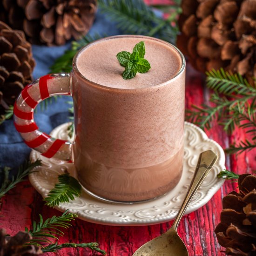
<path fill-rule="evenodd" d="M 120 37 L 164 44 L 180 58 L 179 71 L 148 88 L 110 88 L 89 81 L 77 67 L 79 54 Z M 73 97 L 74 142 L 52 138 L 34 121 L 36 105 L 53 95 Z M 184 101 L 185 60 L 176 47 L 146 36 L 112 36 L 83 47 L 71 73 L 45 75 L 25 87 L 14 105 L 14 124 L 27 146 L 42 156 L 74 162 L 90 195 L 143 202 L 164 195 L 181 178 Z"/>

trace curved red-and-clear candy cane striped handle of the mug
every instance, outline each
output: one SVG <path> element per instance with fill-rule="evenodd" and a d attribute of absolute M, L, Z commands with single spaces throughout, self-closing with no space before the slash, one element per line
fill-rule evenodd
<path fill-rule="evenodd" d="M 70 95 L 70 74 L 45 75 L 27 85 L 14 105 L 14 125 L 28 147 L 45 157 L 68 162 L 71 160 L 72 142 L 54 139 L 41 132 L 34 121 L 37 104 L 58 94 Z"/>

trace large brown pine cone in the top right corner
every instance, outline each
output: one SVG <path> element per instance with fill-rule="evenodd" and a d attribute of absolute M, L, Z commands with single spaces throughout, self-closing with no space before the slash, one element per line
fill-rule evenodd
<path fill-rule="evenodd" d="M 183 0 L 177 46 L 197 70 L 256 76 L 256 0 Z"/>

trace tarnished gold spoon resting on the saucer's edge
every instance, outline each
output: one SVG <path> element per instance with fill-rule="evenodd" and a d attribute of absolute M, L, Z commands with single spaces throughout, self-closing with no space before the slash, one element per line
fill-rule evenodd
<path fill-rule="evenodd" d="M 135 251 L 133 256 L 189 256 L 186 245 L 177 234 L 177 227 L 189 205 L 189 202 L 200 187 L 204 178 L 216 163 L 217 158 L 218 156 L 211 150 L 204 151 L 200 154 L 195 168 L 194 177 L 172 227 L 161 236 L 143 244 Z"/>

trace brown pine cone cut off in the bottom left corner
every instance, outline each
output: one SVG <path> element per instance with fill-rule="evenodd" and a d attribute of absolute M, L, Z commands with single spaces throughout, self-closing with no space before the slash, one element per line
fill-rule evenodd
<path fill-rule="evenodd" d="M 35 245 L 25 245 L 32 237 L 27 232 L 18 232 L 15 236 L 6 236 L 0 229 L 0 256 L 33 256 L 42 253 Z"/>

